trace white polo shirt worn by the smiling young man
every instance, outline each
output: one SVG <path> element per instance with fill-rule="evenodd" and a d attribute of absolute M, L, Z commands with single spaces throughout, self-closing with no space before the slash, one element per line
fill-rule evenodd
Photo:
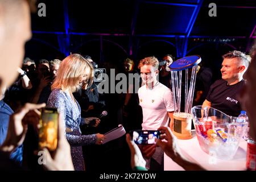
<path fill-rule="evenodd" d="M 139 105 L 143 112 L 143 130 L 157 130 L 160 126 L 168 126 L 167 111 L 174 111 L 172 92 L 167 86 L 158 82 L 153 89 L 143 85 L 138 90 Z"/>

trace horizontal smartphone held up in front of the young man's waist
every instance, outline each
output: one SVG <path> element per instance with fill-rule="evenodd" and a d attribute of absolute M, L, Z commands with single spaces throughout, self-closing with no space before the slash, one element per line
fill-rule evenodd
<path fill-rule="evenodd" d="M 136 144 L 155 144 L 155 139 L 160 138 L 158 130 L 133 130 L 130 134 Z"/>

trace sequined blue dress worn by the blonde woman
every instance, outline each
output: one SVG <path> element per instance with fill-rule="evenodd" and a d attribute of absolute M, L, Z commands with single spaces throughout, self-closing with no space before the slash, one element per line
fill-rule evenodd
<path fill-rule="evenodd" d="M 72 131 L 65 133 L 67 140 L 71 146 L 71 155 L 76 171 L 85 170 L 84 158 L 82 156 L 82 146 L 95 144 L 96 134 L 81 135 L 80 125 L 84 125 L 81 119 L 81 108 L 79 103 L 72 100 L 71 95 L 67 91 L 60 89 L 52 90 L 48 98 L 47 107 L 57 107 L 63 115 L 65 128 Z"/>

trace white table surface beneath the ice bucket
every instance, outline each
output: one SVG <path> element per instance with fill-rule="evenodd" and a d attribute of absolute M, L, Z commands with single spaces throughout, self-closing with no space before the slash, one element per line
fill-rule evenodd
<path fill-rule="evenodd" d="M 246 149 L 247 142 L 243 139 L 240 141 L 240 147 L 237 150 L 236 155 L 232 160 L 221 160 L 213 158 L 201 150 L 199 142 L 196 138 L 195 130 L 192 130 L 192 139 L 180 140 L 178 139 L 178 144 L 181 152 L 185 157 L 187 157 L 191 162 L 200 164 L 210 171 L 241 171 L 246 170 Z M 175 163 L 171 158 L 164 154 L 164 171 L 184 171 L 177 163 Z"/>

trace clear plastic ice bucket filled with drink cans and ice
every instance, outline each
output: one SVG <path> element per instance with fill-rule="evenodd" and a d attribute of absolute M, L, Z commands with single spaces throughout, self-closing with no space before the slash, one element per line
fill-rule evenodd
<path fill-rule="evenodd" d="M 213 107 L 195 106 L 191 114 L 201 149 L 218 159 L 233 159 L 248 123 Z"/>

